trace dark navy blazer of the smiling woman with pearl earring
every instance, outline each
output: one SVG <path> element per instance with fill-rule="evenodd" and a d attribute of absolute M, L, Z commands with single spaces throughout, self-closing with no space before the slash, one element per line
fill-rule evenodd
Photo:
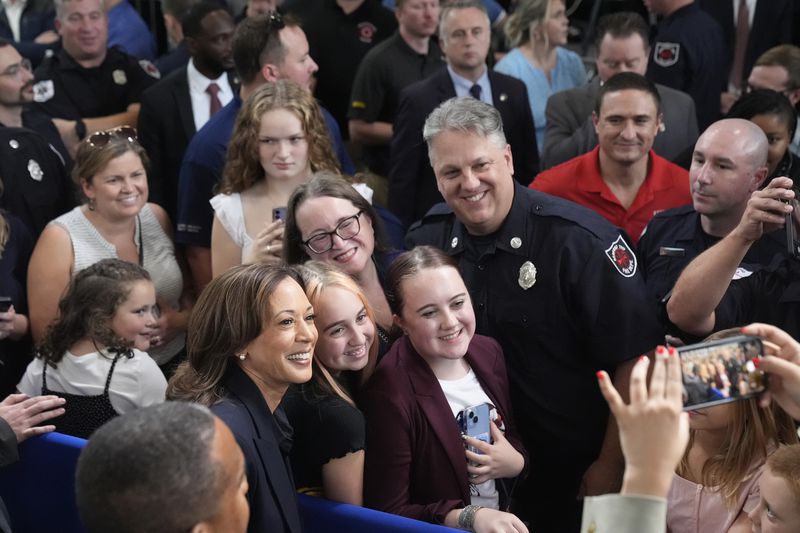
<path fill-rule="evenodd" d="M 228 425 L 244 453 L 248 532 L 301 533 L 289 450 L 261 391 L 236 364 L 228 365 L 222 385 L 225 397 L 211 411 Z"/>

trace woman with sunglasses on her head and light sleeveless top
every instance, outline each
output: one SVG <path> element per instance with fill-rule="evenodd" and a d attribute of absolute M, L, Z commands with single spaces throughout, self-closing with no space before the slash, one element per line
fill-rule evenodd
<path fill-rule="evenodd" d="M 191 300 L 166 212 L 147 203 L 147 154 L 136 130 L 96 132 L 78 146 L 72 175 L 83 205 L 47 225 L 28 269 L 31 331 L 40 342 L 56 318 L 70 279 L 101 259 L 138 263 L 156 288 L 157 314 L 148 353 L 169 376 L 184 352 Z"/>

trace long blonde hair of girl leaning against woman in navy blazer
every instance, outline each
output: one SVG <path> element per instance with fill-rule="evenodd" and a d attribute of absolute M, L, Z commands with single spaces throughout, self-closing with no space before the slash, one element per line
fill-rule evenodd
<path fill-rule="evenodd" d="M 367 301 L 366 295 L 353 278 L 336 267 L 322 261 L 308 261 L 304 265 L 296 268 L 303 277 L 303 282 L 306 286 L 306 295 L 315 308 L 317 307 L 319 299 L 322 297 L 322 293 L 331 287 L 338 287 L 353 293 L 364 305 L 367 319 L 375 326 L 376 335 L 372 341 L 372 345 L 369 347 L 367 365 L 357 373 L 358 385 L 363 385 L 375 370 L 375 365 L 378 362 L 378 344 L 380 344 L 377 337 L 378 325 L 377 322 L 375 322 L 375 314 Z M 331 371 L 320 362 L 318 357 L 314 357 L 313 365 L 314 372 L 310 383 L 318 392 L 323 395 L 333 393 L 347 403 L 355 406 L 355 402 L 348 391 L 331 374 Z"/>

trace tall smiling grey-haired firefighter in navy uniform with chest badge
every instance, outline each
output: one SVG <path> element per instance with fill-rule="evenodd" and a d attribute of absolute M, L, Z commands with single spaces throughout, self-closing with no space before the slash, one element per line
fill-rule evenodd
<path fill-rule="evenodd" d="M 615 379 L 627 380 L 631 360 L 663 340 L 636 257 L 596 213 L 515 184 L 492 106 L 448 100 L 424 132 L 447 205 L 414 224 L 407 245 L 437 246 L 458 260 L 477 331 L 503 347 L 531 457 L 512 511 L 532 531 L 577 531 L 587 469 L 590 492 L 613 492 L 621 479 L 619 464 L 605 469 L 598 460 L 619 450 L 604 442 L 608 410 L 595 372 L 618 369 Z"/>

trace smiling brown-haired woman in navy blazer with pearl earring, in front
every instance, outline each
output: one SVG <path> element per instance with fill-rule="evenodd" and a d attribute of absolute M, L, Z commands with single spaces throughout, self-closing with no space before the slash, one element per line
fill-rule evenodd
<path fill-rule="evenodd" d="M 207 405 L 244 452 L 251 532 L 300 533 L 288 424 L 276 412 L 292 383 L 311 379 L 317 330 L 296 272 L 234 267 L 200 295 L 189 322 L 188 361 L 167 397 Z"/>

